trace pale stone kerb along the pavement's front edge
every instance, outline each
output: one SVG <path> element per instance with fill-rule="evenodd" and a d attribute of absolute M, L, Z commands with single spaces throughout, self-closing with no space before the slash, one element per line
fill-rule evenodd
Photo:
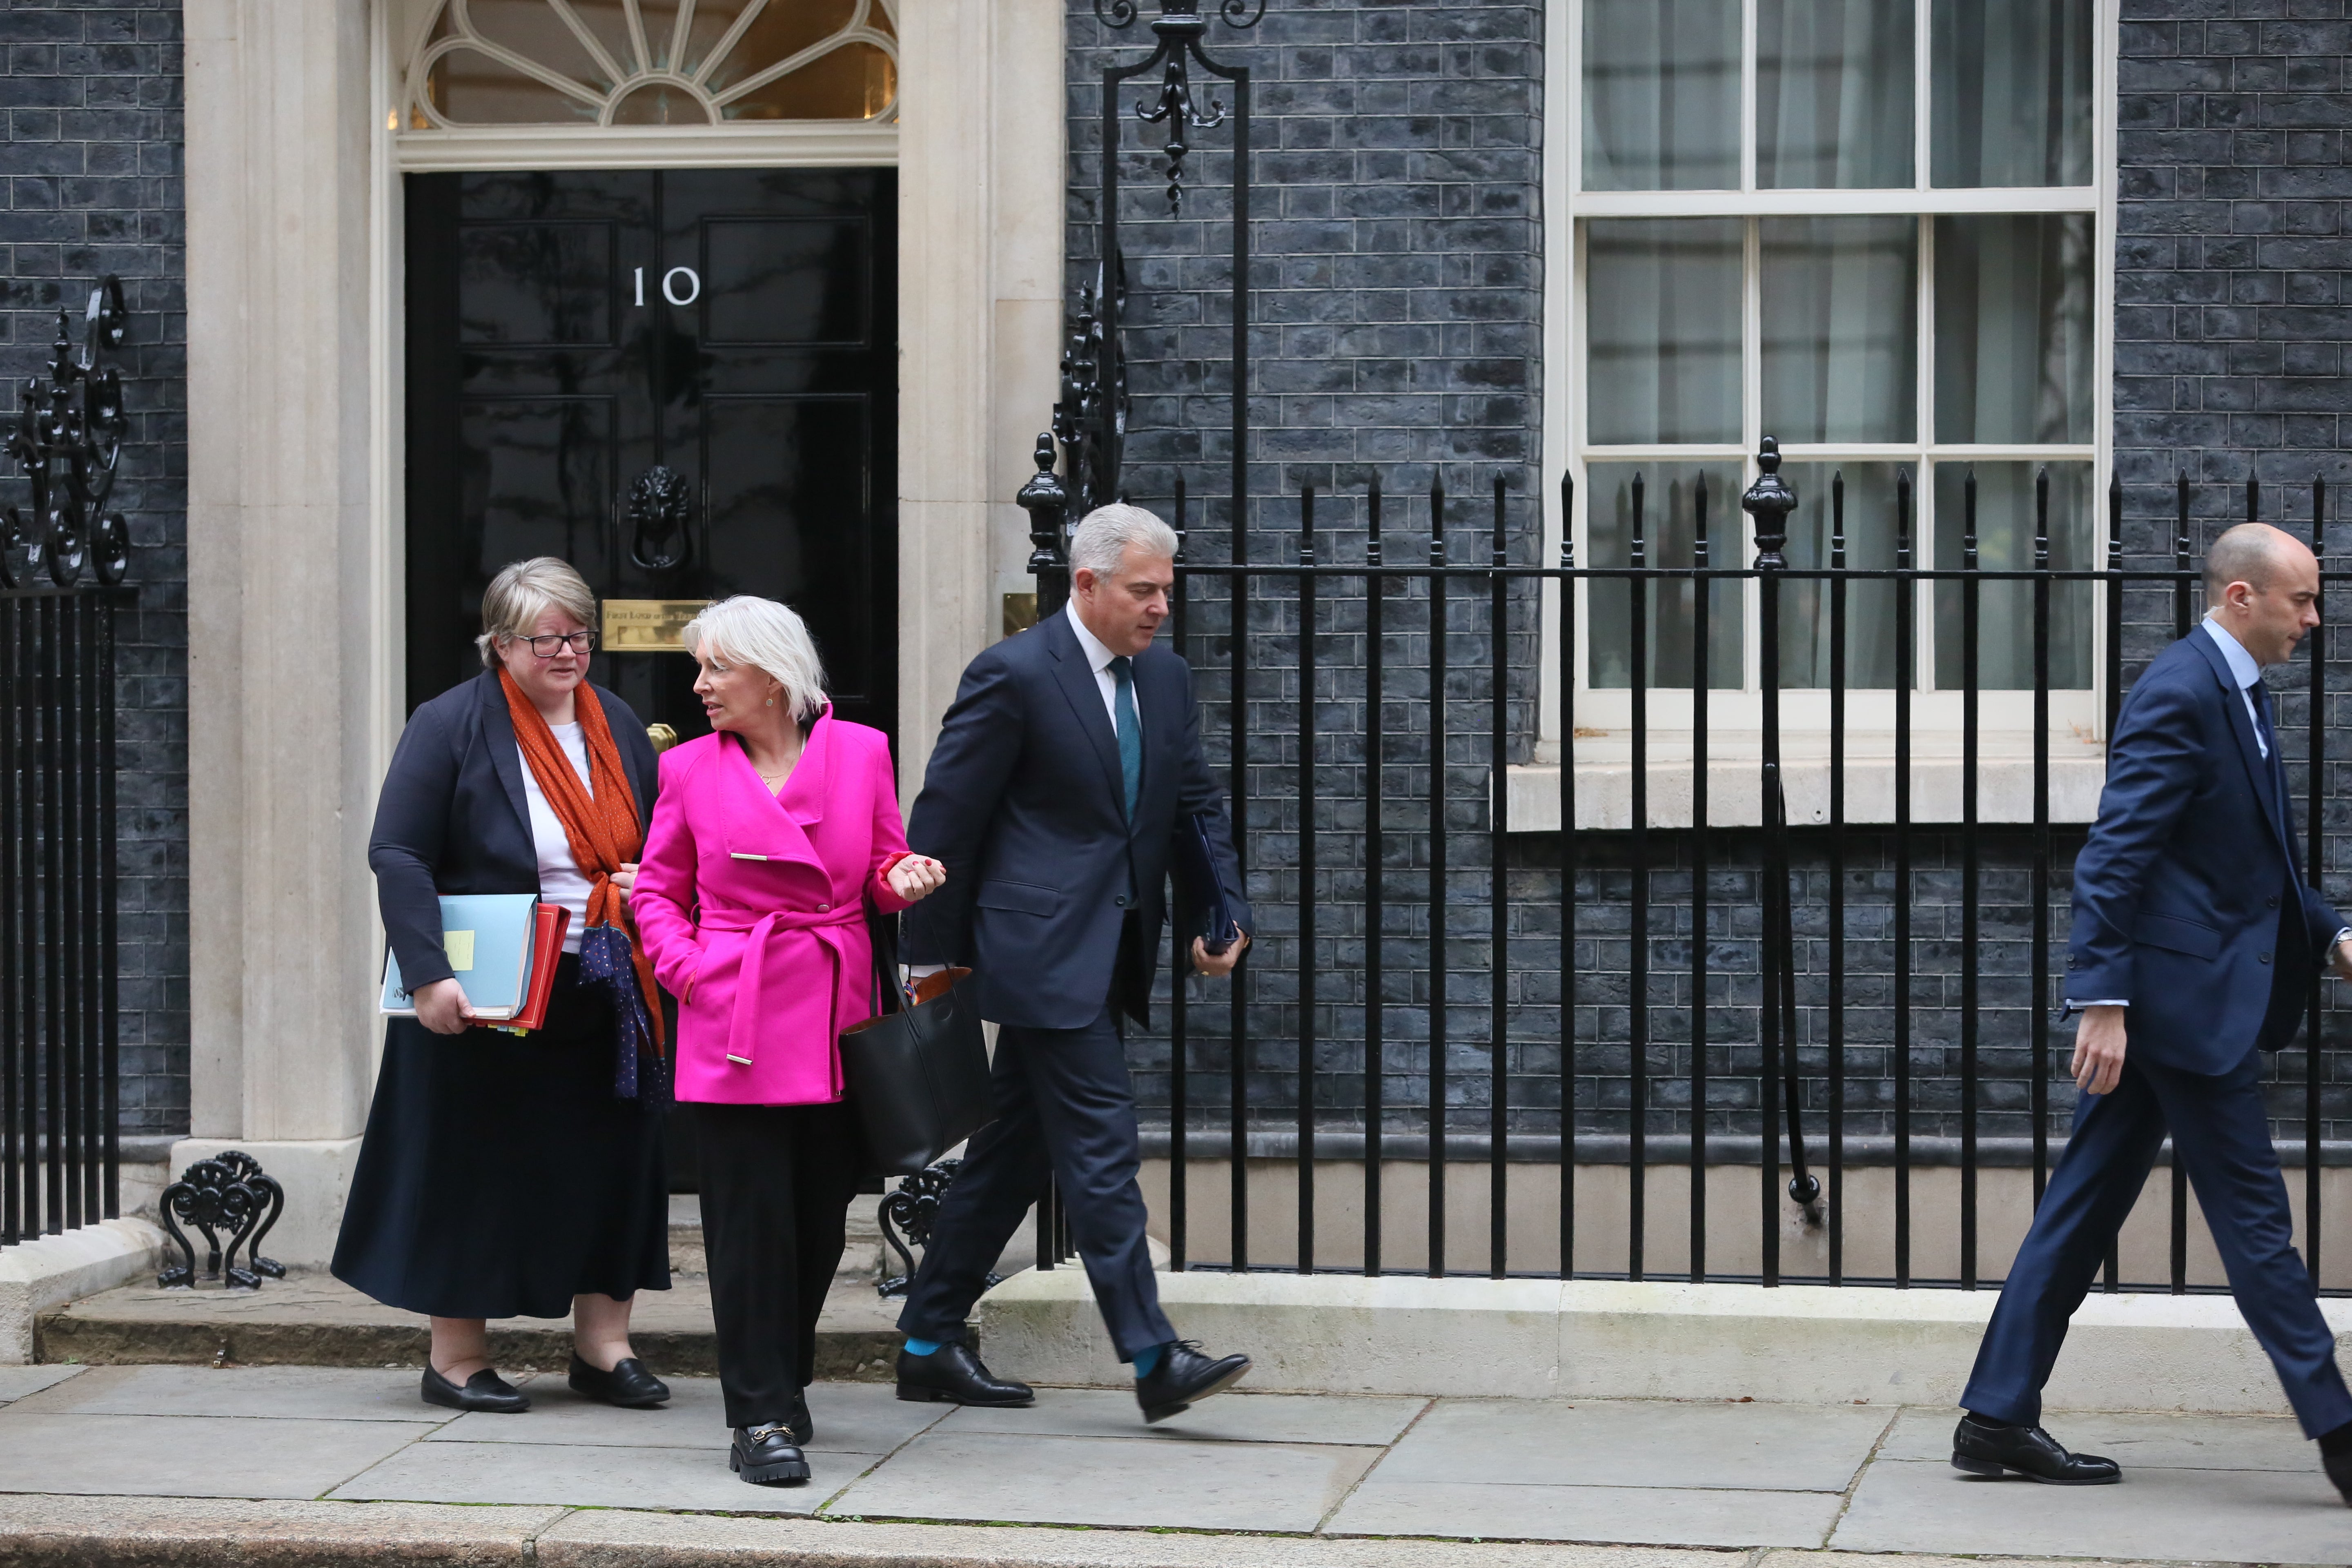
<path fill-rule="evenodd" d="M 1463 1540 L 1322 1540 L 1035 1526 L 863 1523 L 430 1502 L 216 1502 L 0 1495 L 0 1563 L 21 1568 L 1837 1568 L 1853 1554 Z M 1992 1568 L 1870 1556 L 1886 1568 Z M 2067 1568 L 2107 1568 L 2072 1559 Z M 2119 1566 L 2117 1566 L 2119 1568 Z"/>

